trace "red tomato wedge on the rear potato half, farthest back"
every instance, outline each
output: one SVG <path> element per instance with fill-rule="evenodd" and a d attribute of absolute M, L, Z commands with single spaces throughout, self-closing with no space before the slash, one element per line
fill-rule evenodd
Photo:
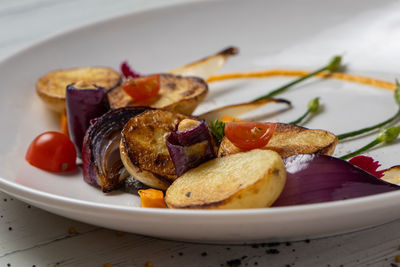
<path fill-rule="evenodd" d="M 143 102 L 158 94 L 161 84 L 160 78 L 160 74 L 128 78 L 122 84 L 122 89 L 135 101 Z"/>

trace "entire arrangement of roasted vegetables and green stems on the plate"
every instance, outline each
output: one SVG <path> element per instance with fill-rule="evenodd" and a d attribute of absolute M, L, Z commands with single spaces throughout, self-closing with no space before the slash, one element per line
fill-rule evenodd
<path fill-rule="evenodd" d="M 339 139 L 365 129 L 338 139 L 329 131 L 297 125 L 317 114 L 319 97 L 292 123 L 237 117 L 266 104 L 290 108 L 290 101 L 271 97 L 308 77 L 334 74 L 341 68 L 341 57 L 253 101 L 192 115 L 207 96 L 207 79 L 237 53 L 237 48 L 229 47 L 169 73 L 149 75 L 130 69 L 127 62 L 121 66 L 122 74 L 106 67 L 57 70 L 41 77 L 36 91 L 63 118 L 62 128 L 75 148 L 65 136 L 59 145 L 73 158 L 81 157 L 84 180 L 104 193 L 121 188 L 138 193 L 143 207 L 265 208 L 399 189 L 395 185 L 400 181 L 398 166 L 381 171 L 379 179 L 376 168 L 363 170 L 366 161 L 354 160 L 356 164 L 332 156 Z M 397 84 L 397 103 L 399 88 Z M 382 130 L 375 143 L 349 155 L 392 142 L 399 134 L 400 126 Z M 73 164 L 63 169 L 64 159 L 60 159 L 52 163 L 54 168 L 46 169 L 42 159 L 48 154 L 40 154 L 43 149 L 36 145 L 26 156 L 32 165 L 55 172 L 76 168 L 72 159 Z"/>

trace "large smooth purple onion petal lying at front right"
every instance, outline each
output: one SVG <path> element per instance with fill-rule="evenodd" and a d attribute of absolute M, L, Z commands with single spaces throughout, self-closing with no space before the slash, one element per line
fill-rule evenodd
<path fill-rule="evenodd" d="M 300 154 L 284 162 L 286 185 L 274 207 L 344 200 L 400 189 L 331 156 Z"/>

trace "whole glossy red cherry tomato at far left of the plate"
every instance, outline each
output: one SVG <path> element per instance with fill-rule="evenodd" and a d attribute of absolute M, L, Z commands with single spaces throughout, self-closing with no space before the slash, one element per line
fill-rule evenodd
<path fill-rule="evenodd" d="M 36 137 L 25 159 L 33 166 L 49 172 L 76 169 L 76 150 L 72 141 L 59 132 L 45 132 Z"/>

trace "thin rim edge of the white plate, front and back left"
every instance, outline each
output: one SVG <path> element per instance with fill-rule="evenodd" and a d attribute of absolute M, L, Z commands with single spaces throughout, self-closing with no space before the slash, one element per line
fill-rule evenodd
<path fill-rule="evenodd" d="M 116 14 L 111 17 L 107 17 L 104 19 L 99 19 L 92 22 L 87 22 L 81 25 L 77 25 L 71 27 L 69 29 L 63 30 L 61 32 L 54 33 L 49 35 L 37 42 L 25 45 L 18 51 L 5 56 L 0 60 L 0 67 L 6 66 L 10 61 L 15 60 L 15 58 L 23 57 L 24 54 L 29 53 L 31 50 L 36 49 L 39 46 L 46 45 L 49 42 L 52 42 L 58 38 L 61 38 L 65 35 L 71 34 L 75 31 L 86 30 L 91 27 L 94 27 L 98 24 L 107 24 L 112 23 L 114 20 L 123 19 L 131 16 L 136 16 L 138 14 L 145 14 L 148 12 L 153 12 L 154 10 L 163 10 L 168 8 L 173 8 L 174 6 L 189 6 L 195 4 L 203 4 L 203 3 L 215 2 L 214 0 L 189 0 L 182 1 L 176 3 L 167 3 L 164 2 L 157 6 L 147 7 L 141 10 L 131 10 L 127 12 L 123 12 L 121 14 Z M 0 176 L 0 191 L 3 191 L 7 194 L 14 195 L 18 198 L 28 200 L 37 201 L 49 206 L 58 206 L 63 205 L 63 208 L 73 208 L 73 207 L 85 207 L 91 209 L 101 209 L 108 211 L 120 211 L 120 212 L 129 212 L 129 213 L 142 213 L 148 215 L 174 215 L 179 214 L 181 216 L 204 216 L 208 215 L 211 217 L 216 216 L 237 216 L 237 215 L 264 215 L 264 214 L 293 214 L 294 212 L 311 212 L 314 210 L 321 209 L 338 209 L 343 207 L 357 206 L 357 205 L 365 205 L 371 203 L 386 203 L 387 201 L 396 200 L 400 197 L 400 191 L 396 192 L 387 192 L 376 195 L 358 197 L 353 199 L 346 200 L 337 200 L 323 203 L 315 203 L 315 204 L 304 204 L 304 205 L 295 205 L 295 206 L 284 206 L 284 207 L 271 207 L 271 208 L 257 208 L 257 209 L 238 209 L 238 210 L 179 210 L 179 209 L 154 209 L 154 208 L 142 208 L 142 207 L 129 207 L 125 205 L 115 205 L 115 204 L 107 204 L 107 203 L 96 203 L 93 201 L 80 200 L 71 197 L 60 196 L 57 194 L 52 194 L 44 191 L 40 191 L 38 189 L 31 188 L 29 186 L 25 186 L 22 184 L 18 184 L 16 182 L 12 182 L 9 179 L 6 179 Z M 99 192 L 101 193 L 101 192 Z M 46 201 L 49 201 L 48 203 Z M 58 204 L 58 205 L 57 205 Z M 379 205 L 378 205 L 379 206 Z M 400 218 L 400 215 L 399 215 Z"/>

